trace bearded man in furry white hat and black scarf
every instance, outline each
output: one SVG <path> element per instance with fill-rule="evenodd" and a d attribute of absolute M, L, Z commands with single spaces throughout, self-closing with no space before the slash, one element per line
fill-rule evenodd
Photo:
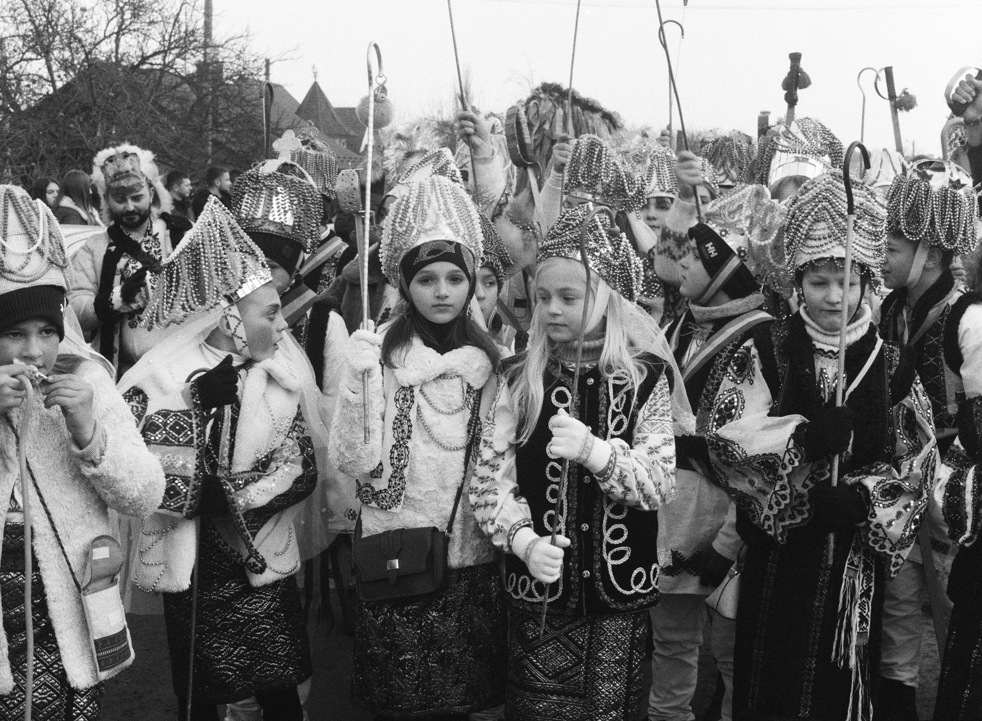
<path fill-rule="evenodd" d="M 92 179 L 102 198 L 106 230 L 72 259 L 68 301 L 85 339 L 122 376 L 155 342 L 139 322 L 160 264 L 191 229 L 174 216 L 153 153 L 135 145 L 95 156 Z"/>

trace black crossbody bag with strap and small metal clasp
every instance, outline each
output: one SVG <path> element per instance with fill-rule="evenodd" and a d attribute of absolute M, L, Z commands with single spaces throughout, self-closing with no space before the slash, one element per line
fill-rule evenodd
<path fill-rule="evenodd" d="M 450 534 L 461 505 L 470 452 L 477 436 L 481 390 L 474 393 L 467 444 L 464 448 L 464 478 L 454 498 L 454 509 L 446 530 L 436 526 L 383 531 L 361 535 L 361 514 L 355 524 L 352 560 L 358 598 L 365 602 L 410 599 L 441 592 L 449 582 L 447 551 Z"/>

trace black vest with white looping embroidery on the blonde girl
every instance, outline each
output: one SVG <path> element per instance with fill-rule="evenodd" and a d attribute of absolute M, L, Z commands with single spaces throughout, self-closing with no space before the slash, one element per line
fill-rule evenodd
<path fill-rule="evenodd" d="M 655 384 L 666 372 L 655 356 L 645 358 L 647 375 L 638 389 L 636 402 L 624 386 L 613 384 L 618 407 L 611 408 L 611 387 L 597 366 L 584 367 L 579 376 L 577 408 L 572 414 L 599 438 L 632 442 L 637 414 Z M 516 471 L 518 491 L 528 501 L 532 524 L 539 536 L 551 535 L 553 507 L 559 490 L 562 459 L 546 454 L 552 438 L 549 419 L 567 407 L 573 369 L 551 364 L 546 371 L 545 395 L 535 432 L 518 448 Z M 670 384 L 672 379 L 669 379 Z M 623 399 L 623 402 L 622 400 Z M 614 433 L 608 437 L 609 424 Z M 563 511 L 560 511 L 563 515 Z M 576 616 L 594 616 L 638 611 L 658 603 L 658 513 L 616 503 L 603 494 L 593 475 L 570 463 L 566 493 L 566 549 L 563 575 L 549 592 L 549 610 Z M 541 607 L 544 586 L 533 581 L 517 556 L 505 557 L 505 588 L 519 607 L 534 611 Z"/>

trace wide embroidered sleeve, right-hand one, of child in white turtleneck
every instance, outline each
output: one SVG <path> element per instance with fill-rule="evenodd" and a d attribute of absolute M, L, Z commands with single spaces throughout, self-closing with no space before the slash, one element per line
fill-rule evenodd
<path fill-rule="evenodd" d="M 863 538 L 886 556 L 896 576 L 917 538 L 921 519 L 938 482 L 938 443 L 931 401 L 920 380 L 893 409 L 895 444 L 891 465 L 880 463 L 849 474 L 845 483 L 869 491 L 870 510 Z"/>

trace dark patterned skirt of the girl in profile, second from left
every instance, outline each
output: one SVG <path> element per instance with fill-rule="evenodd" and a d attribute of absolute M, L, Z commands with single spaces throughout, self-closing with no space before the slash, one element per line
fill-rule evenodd
<path fill-rule="evenodd" d="M 243 561 L 210 523 L 201 523 L 194 626 L 193 696 L 230 703 L 310 678 L 310 646 L 297 580 L 253 588 Z M 191 592 L 164 593 L 174 692 L 186 696 Z"/>

